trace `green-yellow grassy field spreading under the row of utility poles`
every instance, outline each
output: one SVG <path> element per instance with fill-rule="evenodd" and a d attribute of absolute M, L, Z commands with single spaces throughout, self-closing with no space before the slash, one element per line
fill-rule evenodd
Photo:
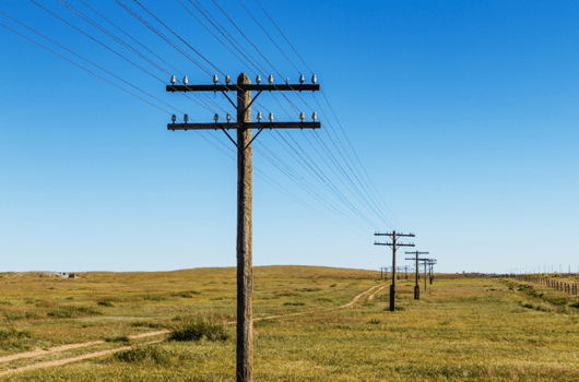
<path fill-rule="evenodd" d="M 379 272 L 314 266 L 255 270 L 256 381 L 578 381 L 579 299 L 518 280 L 437 278 L 398 308 Z M 0 372 L 95 351 L 127 350 L 2 381 L 234 381 L 235 270 L 86 273 L 76 279 L 0 274 Z M 424 284 L 421 283 L 421 289 Z M 377 290 L 376 288 L 374 290 Z M 202 321 L 196 321 L 202 318 Z M 138 334 L 204 323 L 199 341 Z M 213 326 L 212 326 L 213 325 Z M 210 332 L 208 332 L 210 333 Z M 213 332 L 211 332 L 213 333 Z M 156 341 L 155 344 L 143 345 Z M 132 347 L 131 347 L 132 346 Z"/>

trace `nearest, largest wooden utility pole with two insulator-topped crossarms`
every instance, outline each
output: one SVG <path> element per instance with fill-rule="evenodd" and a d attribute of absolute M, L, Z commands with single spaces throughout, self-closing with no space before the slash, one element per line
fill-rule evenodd
<path fill-rule="evenodd" d="M 268 79 L 269 84 L 261 84 L 258 75 L 256 84 L 251 84 L 245 73 L 239 74 L 237 84 L 229 83 L 229 76 L 225 79 L 225 85 L 217 84 L 218 79 L 213 76 L 213 85 L 188 85 L 187 77 L 184 79 L 184 85 L 175 85 L 175 76 L 167 85 L 167 92 L 221 92 L 229 103 L 237 109 L 236 122 L 229 122 L 231 116 L 227 114 L 226 123 L 218 123 L 218 116 L 215 115 L 214 123 L 188 123 L 188 116 L 185 115 L 185 123 L 175 123 L 176 116 L 173 116 L 173 123 L 167 124 L 167 130 L 222 130 L 227 138 L 237 146 L 237 382 L 253 381 L 253 311 L 251 298 L 251 273 L 252 273 L 252 202 L 253 202 L 253 166 L 251 143 L 263 129 L 319 129 L 320 122 L 304 122 L 302 112 L 302 122 L 273 122 L 273 115 L 270 114 L 269 122 L 261 122 L 261 112 L 258 114 L 258 122 L 251 122 L 251 104 L 262 92 L 315 92 L 320 89 L 316 84 L 314 75 L 311 84 L 304 84 L 304 76 L 299 79 L 299 84 L 273 84 L 273 77 Z M 258 94 L 251 98 L 251 92 Z M 237 93 L 237 105 L 227 96 L 226 93 Z M 227 132 L 228 130 L 237 131 L 237 142 Z M 251 138 L 251 129 L 259 129 L 256 136 Z"/>

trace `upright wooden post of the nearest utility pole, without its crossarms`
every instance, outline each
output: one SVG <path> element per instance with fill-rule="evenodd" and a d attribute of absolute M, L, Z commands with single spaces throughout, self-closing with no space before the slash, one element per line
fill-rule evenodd
<path fill-rule="evenodd" d="M 250 84 L 245 73 L 237 84 Z M 237 121 L 251 122 L 250 91 L 237 91 Z M 251 129 L 237 130 L 237 382 L 253 381 L 253 311 L 251 308 L 251 208 L 253 166 Z M 249 146 L 248 146 L 249 145 Z"/>

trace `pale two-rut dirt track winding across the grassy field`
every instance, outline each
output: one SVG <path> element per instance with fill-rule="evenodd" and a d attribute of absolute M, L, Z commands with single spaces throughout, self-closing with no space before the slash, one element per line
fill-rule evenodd
<path fill-rule="evenodd" d="M 377 293 L 379 293 L 380 290 L 382 290 L 387 285 L 375 285 L 371 288 L 361 293 L 359 295 L 356 295 L 352 299 L 352 301 L 350 301 L 347 303 L 344 303 L 343 306 L 340 306 L 340 307 L 320 309 L 320 310 L 310 310 L 310 311 L 307 311 L 307 312 L 297 312 L 297 313 L 290 313 L 290 314 L 269 315 L 269 317 L 262 317 L 262 318 L 253 319 L 253 321 L 270 320 L 270 319 L 276 319 L 276 318 L 281 318 L 281 317 L 293 317 L 293 315 L 302 315 L 302 314 L 309 314 L 309 313 L 319 313 L 319 312 L 327 312 L 327 311 L 332 311 L 332 310 L 350 308 L 354 303 L 356 303 L 364 295 L 366 295 L 366 294 L 368 294 L 368 293 L 374 290 L 374 294 L 371 294 L 368 297 L 368 301 L 370 301 L 371 299 L 374 299 L 374 296 Z M 228 324 L 234 324 L 234 323 L 235 323 L 235 321 L 228 322 Z M 169 331 L 157 331 L 157 332 L 151 332 L 151 333 L 141 333 L 141 334 L 129 336 L 129 338 L 144 338 L 144 337 L 151 337 L 151 336 L 166 334 L 166 333 L 169 333 Z M 119 347 L 119 348 L 116 348 L 116 349 L 88 353 L 88 354 L 85 354 L 85 355 L 82 355 L 82 356 L 78 356 L 78 357 L 58 359 L 58 360 L 54 360 L 54 361 L 38 362 L 38 363 L 34 363 L 34 365 L 28 365 L 28 366 L 25 366 L 25 367 L 22 367 L 22 368 L 17 368 L 17 369 L 1 371 L 0 372 L 0 377 L 5 375 L 5 374 L 10 374 L 10 373 L 27 371 L 27 370 L 34 370 L 34 369 L 40 369 L 40 368 L 49 368 L 49 367 L 52 367 L 52 366 L 62 366 L 62 365 L 71 363 L 71 362 L 76 362 L 76 361 L 80 361 L 80 360 L 83 360 L 83 359 L 101 357 L 101 356 L 105 356 L 105 355 L 108 355 L 108 354 L 113 354 L 113 353 L 117 353 L 117 351 L 121 351 L 121 350 L 127 350 L 127 349 L 130 349 L 130 348 L 133 348 L 133 347 L 137 347 L 137 346 L 156 344 L 156 343 L 159 343 L 159 342 L 161 341 L 154 341 L 154 342 L 144 343 L 144 344 L 137 344 L 137 345 L 132 345 L 132 346 L 123 346 L 123 347 Z M 99 344 L 104 344 L 104 343 L 105 343 L 104 341 L 93 341 L 93 342 L 83 343 L 83 344 L 70 344 L 70 345 L 52 347 L 52 348 L 47 349 L 47 350 L 36 349 L 36 350 L 33 350 L 33 351 L 20 353 L 20 354 L 2 357 L 2 359 L 0 359 L 0 363 L 10 362 L 10 361 L 13 361 L 13 360 L 16 360 L 16 359 L 22 359 L 22 358 L 32 358 L 32 357 L 38 357 L 38 356 L 60 353 L 60 351 L 70 350 L 70 349 L 78 349 L 80 347 L 87 347 L 87 346 L 99 345 Z"/>

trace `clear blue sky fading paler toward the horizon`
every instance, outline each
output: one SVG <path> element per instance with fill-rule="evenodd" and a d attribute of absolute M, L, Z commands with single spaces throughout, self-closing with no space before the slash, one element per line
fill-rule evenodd
<path fill-rule="evenodd" d="M 115 1 L 63 2 L 130 43 L 163 70 L 58 1 L 37 2 L 152 75 L 33 2 L 3 1 L 0 11 L 157 99 L 3 14 L 0 23 L 168 114 L 0 26 L 2 271 L 168 271 L 235 265 L 236 162 L 216 148 L 232 153 L 215 138 L 229 148 L 233 144 L 220 132 L 166 130 L 170 114 L 181 117 L 187 112 L 196 121 L 212 121 L 214 112 L 221 118 L 223 110 L 234 112 L 218 94 L 204 98 L 209 109 L 180 94 L 167 94 L 165 72 L 179 79 L 187 74 L 192 83 L 211 83 L 213 74 L 223 80 L 217 69 L 234 79 L 247 72 L 253 81 L 259 72 L 282 82 L 280 72 L 297 82 L 299 72 L 309 81 L 308 68 L 316 73 L 355 155 L 386 202 L 390 224 L 380 220 L 383 214 L 373 214 L 364 196 L 356 199 L 348 191 L 348 180 L 332 172 L 340 170 L 332 167 L 331 158 L 326 157 L 327 166 L 323 155 L 314 148 L 323 151 L 316 145 L 319 136 L 339 163 L 341 155 L 354 155 L 323 95 L 303 94 L 300 99 L 286 94 L 286 99 L 262 94 L 253 111 L 271 110 L 279 120 L 296 121 L 298 111 L 309 117 L 314 109 L 324 131 L 318 136 L 311 131 L 282 135 L 264 131 L 259 136 L 253 164 L 277 186 L 255 178 L 255 265 L 379 268 L 391 264 L 391 255 L 386 247 L 373 246 L 373 234 L 395 228 L 415 232 L 416 249 L 438 259 L 438 271 L 504 272 L 539 265 L 558 268 L 559 264 L 578 270 L 576 1 L 260 0 L 306 67 L 255 0 L 244 0 L 244 4 L 288 60 L 238 0 L 217 3 L 259 52 L 215 3 L 200 0 L 264 69 L 256 70 L 233 45 L 221 45 L 176 0 L 141 3 L 215 68 L 134 1 L 123 0 L 202 62 L 209 73 Z M 191 2 L 181 2 L 223 39 Z M 305 191 L 296 186 L 258 147 L 279 155 L 294 178 L 307 179 L 315 189 L 306 187 Z M 307 165 L 294 160 L 291 147 L 303 148 L 302 155 L 311 159 L 308 163 L 316 163 L 328 176 L 330 189 L 340 190 L 354 210 L 317 182 Z M 357 165 L 355 158 L 353 162 Z M 358 171 L 364 178 L 362 167 Z M 363 195 L 373 192 L 366 187 L 369 182 L 363 184 L 357 189 Z M 315 199 L 316 192 L 344 218 Z M 403 258 L 399 264 L 406 263 Z"/>

